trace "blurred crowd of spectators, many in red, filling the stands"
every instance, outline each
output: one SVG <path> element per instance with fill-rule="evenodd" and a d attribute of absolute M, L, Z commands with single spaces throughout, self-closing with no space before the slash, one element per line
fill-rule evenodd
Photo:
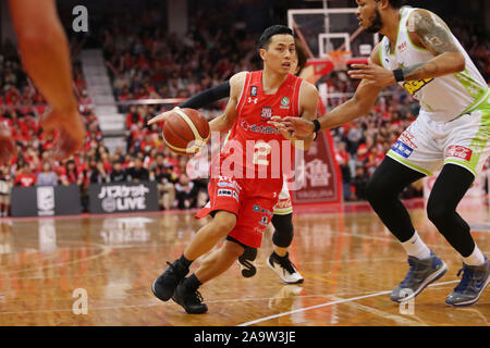
<path fill-rule="evenodd" d="M 220 13 L 193 13 L 183 39 L 162 30 L 159 21 L 151 12 L 143 13 L 138 21 L 125 15 L 114 16 L 100 33 L 117 100 L 188 98 L 230 78 L 235 72 L 260 69 L 256 38 Z M 489 80 L 488 42 L 470 25 L 456 23 L 452 28 Z M 120 111 L 126 116 L 127 142 L 125 148 L 110 153 L 103 145 L 98 116 L 90 108 L 76 57 L 73 57 L 73 72 L 87 138 L 82 151 L 58 162 L 52 159 L 52 138 L 42 133 L 45 100 L 22 71 L 16 49 L 11 45 L 2 47 L 0 122 L 10 127 L 17 154 L 10 165 L 0 170 L 0 216 L 9 212 L 12 186 L 76 184 L 81 188 L 83 207 L 87 209 L 87 188 L 91 183 L 156 181 L 161 209 L 204 206 L 207 182 L 189 178 L 186 172 L 189 158 L 177 156 L 164 146 L 159 125 L 147 125 L 149 119 L 168 105 L 121 105 Z M 354 82 L 345 72 L 333 72 L 320 83 L 327 84 L 328 92 L 348 95 L 355 90 Z M 347 98 L 328 98 L 327 107 L 330 110 Z M 224 102 L 208 108 L 209 120 L 220 112 Z M 364 187 L 370 175 L 417 113 L 418 103 L 401 88 L 392 86 L 384 89 L 368 115 L 331 130 L 345 201 L 365 199 Z M 421 194 L 421 187 L 413 185 L 403 196 Z"/>

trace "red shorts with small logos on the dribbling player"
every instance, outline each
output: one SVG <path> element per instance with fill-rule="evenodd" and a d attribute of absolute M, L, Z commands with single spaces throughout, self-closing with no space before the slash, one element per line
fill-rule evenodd
<path fill-rule="evenodd" d="M 210 178 L 209 202 L 196 217 L 200 219 L 219 210 L 234 213 L 237 217 L 236 225 L 229 236 L 248 247 L 259 248 L 264 231 L 272 219 L 281 187 L 282 179 L 262 182 L 228 176 Z"/>

